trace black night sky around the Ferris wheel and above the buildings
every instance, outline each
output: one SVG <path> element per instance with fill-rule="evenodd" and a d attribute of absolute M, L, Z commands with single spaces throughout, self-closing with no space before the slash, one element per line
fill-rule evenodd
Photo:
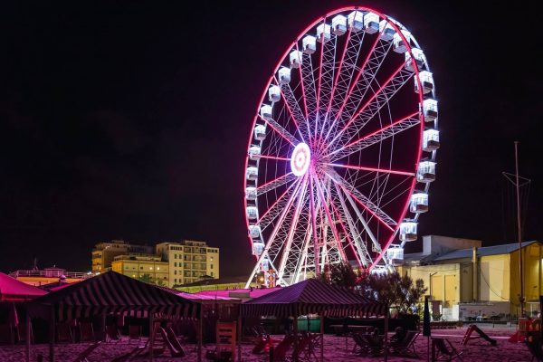
<path fill-rule="evenodd" d="M 0 11 L 0 271 L 90 270 L 95 243 L 203 240 L 221 273 L 253 259 L 244 157 L 285 48 L 339 5 L 394 17 L 430 62 L 442 148 L 419 234 L 516 242 L 502 171 L 531 179 L 543 239 L 542 34 L 530 2 L 4 3 Z M 415 242 L 410 250 L 417 251 Z"/>

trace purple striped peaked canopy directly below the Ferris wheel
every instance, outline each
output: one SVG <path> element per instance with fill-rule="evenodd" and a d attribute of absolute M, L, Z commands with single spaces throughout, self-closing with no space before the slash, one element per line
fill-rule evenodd
<path fill-rule="evenodd" d="M 329 317 L 384 316 L 386 305 L 353 291 L 308 279 L 242 304 L 244 317 L 294 317 L 319 314 Z"/>

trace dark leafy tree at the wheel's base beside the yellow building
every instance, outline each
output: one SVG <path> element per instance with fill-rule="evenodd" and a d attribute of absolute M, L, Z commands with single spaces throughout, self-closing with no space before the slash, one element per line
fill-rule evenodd
<path fill-rule="evenodd" d="M 400 313 L 418 310 L 420 300 L 428 290 L 422 279 L 413 281 L 398 272 L 367 274 L 360 279 L 358 288 L 366 297 L 384 302 Z"/>

